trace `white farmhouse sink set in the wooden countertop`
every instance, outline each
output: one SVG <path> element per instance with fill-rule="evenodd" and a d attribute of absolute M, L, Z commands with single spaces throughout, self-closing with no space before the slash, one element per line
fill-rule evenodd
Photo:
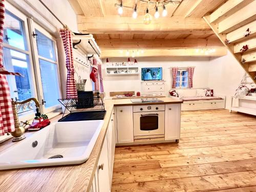
<path fill-rule="evenodd" d="M 1 153 L 0 170 L 83 163 L 92 153 L 102 124 L 103 120 L 52 123 Z M 48 159 L 58 155 L 63 158 Z"/>

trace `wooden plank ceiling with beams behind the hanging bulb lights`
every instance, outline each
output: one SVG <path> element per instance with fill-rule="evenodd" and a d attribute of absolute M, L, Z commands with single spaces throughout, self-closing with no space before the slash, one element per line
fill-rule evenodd
<path fill-rule="evenodd" d="M 223 44 L 202 18 L 225 0 L 180 0 L 167 4 L 166 17 L 154 18 L 155 4 L 149 4 L 150 25 L 143 24 L 147 3 L 122 0 L 123 14 L 117 12 L 120 0 L 69 0 L 77 14 L 78 30 L 93 34 L 101 50 L 106 49 L 188 49 L 219 48 Z M 151 2 L 164 0 L 151 0 Z M 138 17 L 132 17 L 137 3 Z M 159 7 L 161 14 L 162 8 Z"/>

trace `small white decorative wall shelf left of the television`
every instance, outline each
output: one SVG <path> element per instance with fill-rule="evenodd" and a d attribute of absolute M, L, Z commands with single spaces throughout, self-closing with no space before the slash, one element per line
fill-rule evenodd
<path fill-rule="evenodd" d="M 106 75 L 138 75 L 138 66 L 107 66 Z"/>

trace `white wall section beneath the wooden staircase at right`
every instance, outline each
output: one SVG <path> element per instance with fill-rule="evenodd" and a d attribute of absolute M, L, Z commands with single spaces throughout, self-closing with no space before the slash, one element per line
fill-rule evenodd
<path fill-rule="evenodd" d="M 229 109 L 230 97 L 236 93 L 244 74 L 244 69 L 229 51 L 225 56 L 210 58 L 208 84 L 215 94 L 226 95 L 226 109 Z M 247 81 L 252 82 L 250 78 Z"/>

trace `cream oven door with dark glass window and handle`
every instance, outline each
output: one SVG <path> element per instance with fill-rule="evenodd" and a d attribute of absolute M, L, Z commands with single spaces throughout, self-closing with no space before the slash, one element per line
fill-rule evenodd
<path fill-rule="evenodd" d="M 134 136 L 163 135 L 164 111 L 133 113 Z"/>

